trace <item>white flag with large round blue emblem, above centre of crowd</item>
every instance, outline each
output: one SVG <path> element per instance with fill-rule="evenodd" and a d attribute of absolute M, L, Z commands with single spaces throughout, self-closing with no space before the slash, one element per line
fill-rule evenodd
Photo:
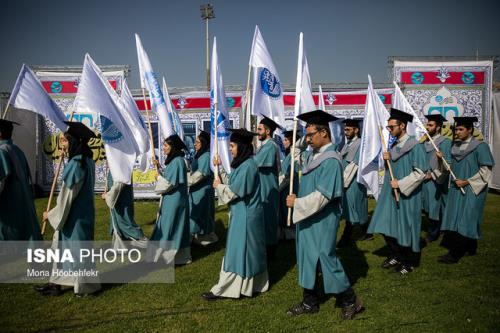
<path fill-rule="evenodd" d="M 249 65 L 253 68 L 252 114 L 285 123 L 283 89 L 266 43 L 255 26 Z"/>

